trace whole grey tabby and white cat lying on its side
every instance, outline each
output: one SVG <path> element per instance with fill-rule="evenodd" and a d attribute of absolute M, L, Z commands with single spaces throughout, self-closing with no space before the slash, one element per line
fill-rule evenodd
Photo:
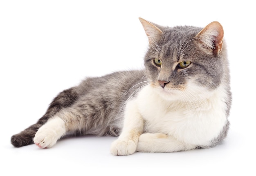
<path fill-rule="evenodd" d="M 139 18 L 149 47 L 144 70 L 86 78 L 54 98 L 14 147 L 50 148 L 66 135 L 119 136 L 113 155 L 218 145 L 229 129 L 229 62 L 219 22 L 163 27 Z M 134 60 L 136 62 L 136 60 Z"/>

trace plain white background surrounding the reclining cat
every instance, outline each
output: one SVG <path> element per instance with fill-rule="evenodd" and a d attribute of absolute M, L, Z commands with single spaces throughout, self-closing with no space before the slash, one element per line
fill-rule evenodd
<path fill-rule="evenodd" d="M 0 1 L 0 157 L 5 175 L 255 175 L 255 5 L 252 1 Z M 148 40 L 138 17 L 159 25 L 219 21 L 229 49 L 230 131 L 214 148 L 112 156 L 114 137 L 85 136 L 51 149 L 14 148 L 13 134 L 86 76 L 142 69 Z"/>

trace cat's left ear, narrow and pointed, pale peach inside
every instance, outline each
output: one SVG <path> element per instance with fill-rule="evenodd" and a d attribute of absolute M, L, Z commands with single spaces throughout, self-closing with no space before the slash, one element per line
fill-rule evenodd
<path fill-rule="evenodd" d="M 149 43 L 154 43 L 159 39 L 159 36 L 163 33 L 158 27 L 153 25 L 152 23 L 144 20 L 143 18 L 139 18 L 144 30 L 148 36 Z"/>

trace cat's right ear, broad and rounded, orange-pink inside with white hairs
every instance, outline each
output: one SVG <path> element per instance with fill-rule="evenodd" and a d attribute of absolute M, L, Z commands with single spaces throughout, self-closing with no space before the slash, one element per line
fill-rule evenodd
<path fill-rule="evenodd" d="M 222 40 L 224 31 L 219 22 L 213 21 L 202 31 L 200 31 L 195 38 L 199 39 L 200 46 L 215 54 L 220 53 L 222 49 Z"/>

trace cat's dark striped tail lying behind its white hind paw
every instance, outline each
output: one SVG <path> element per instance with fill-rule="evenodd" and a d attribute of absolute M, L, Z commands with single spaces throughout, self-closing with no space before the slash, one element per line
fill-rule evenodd
<path fill-rule="evenodd" d="M 31 125 L 27 129 L 15 134 L 11 137 L 11 144 L 14 147 L 22 147 L 25 145 L 34 144 L 33 139 L 38 129 L 44 125 L 49 118 L 54 116 L 58 111 L 65 107 L 70 107 L 78 99 L 78 93 L 75 87 L 62 91 L 54 98 L 49 105 L 45 115 L 41 117 L 38 122 Z"/>

